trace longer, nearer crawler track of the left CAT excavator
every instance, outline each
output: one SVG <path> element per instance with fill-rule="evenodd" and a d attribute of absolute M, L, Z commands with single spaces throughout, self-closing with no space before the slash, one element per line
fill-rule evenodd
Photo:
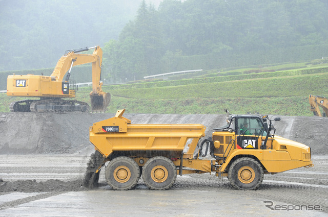
<path fill-rule="evenodd" d="M 76 100 L 37 100 L 31 103 L 30 110 L 36 113 L 86 113 L 90 111 L 90 106 Z"/>

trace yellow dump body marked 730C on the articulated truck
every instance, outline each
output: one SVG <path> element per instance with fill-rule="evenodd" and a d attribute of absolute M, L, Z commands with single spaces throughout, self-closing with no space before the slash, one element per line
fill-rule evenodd
<path fill-rule="evenodd" d="M 123 111 L 122 111 L 123 112 Z M 122 113 L 121 112 L 121 113 Z M 205 127 L 200 124 L 129 124 L 130 120 L 118 116 L 95 123 L 90 127 L 90 141 L 105 157 L 115 151 L 170 152 L 177 158 L 190 141 L 190 151 L 195 150 L 199 138 L 205 136 Z M 189 152 L 187 152 L 189 153 Z M 154 153 L 152 153 L 154 154 Z"/>

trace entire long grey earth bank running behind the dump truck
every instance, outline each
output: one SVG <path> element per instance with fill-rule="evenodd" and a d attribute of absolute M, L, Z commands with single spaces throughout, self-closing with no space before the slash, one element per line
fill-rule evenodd
<path fill-rule="evenodd" d="M 69 154 L 93 150 L 89 127 L 114 114 L 34 114 L 0 113 L 0 153 Z M 226 124 L 225 114 L 125 114 L 132 124 L 202 124 L 210 136 L 212 129 Z M 328 118 L 281 116 L 274 122 L 276 135 L 311 147 L 313 154 L 327 154 Z M 91 154 L 91 153 L 90 153 Z M 90 155 L 88 153 L 88 155 Z"/>

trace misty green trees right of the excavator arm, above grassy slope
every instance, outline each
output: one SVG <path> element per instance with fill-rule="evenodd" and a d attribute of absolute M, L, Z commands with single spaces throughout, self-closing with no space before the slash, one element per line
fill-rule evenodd
<path fill-rule="evenodd" d="M 321 58 L 328 44 L 325 0 L 145 1 L 104 46 L 107 76 L 132 81 L 176 70 Z M 199 66 L 199 67 L 197 67 Z M 196 68 L 191 68 L 196 67 Z"/>

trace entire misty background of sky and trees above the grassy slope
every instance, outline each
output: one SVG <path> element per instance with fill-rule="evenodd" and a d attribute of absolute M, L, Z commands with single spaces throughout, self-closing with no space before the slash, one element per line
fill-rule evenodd
<path fill-rule="evenodd" d="M 318 59 L 328 56 L 327 11 L 325 0 L 163 0 L 158 8 L 2 0 L 0 70 L 54 67 L 65 50 L 93 45 L 103 48 L 103 75 L 113 82 Z"/>

